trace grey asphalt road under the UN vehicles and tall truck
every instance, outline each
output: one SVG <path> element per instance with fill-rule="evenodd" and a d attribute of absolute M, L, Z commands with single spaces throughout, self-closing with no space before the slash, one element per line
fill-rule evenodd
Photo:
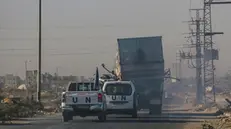
<path fill-rule="evenodd" d="M 22 119 L 15 124 L 0 125 L 0 129 L 184 129 L 189 125 L 196 126 L 204 119 L 214 119 L 213 114 L 164 113 L 162 117 L 139 113 L 139 118 L 130 116 L 108 116 L 101 123 L 96 117 L 75 117 L 73 121 L 63 123 L 61 115 Z"/>

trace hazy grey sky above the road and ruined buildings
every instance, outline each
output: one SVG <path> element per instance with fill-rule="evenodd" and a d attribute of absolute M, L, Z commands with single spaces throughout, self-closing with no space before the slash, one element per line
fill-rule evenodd
<path fill-rule="evenodd" d="M 192 0 L 201 8 L 202 0 Z M 92 75 L 101 63 L 113 66 L 116 39 L 163 36 L 166 67 L 175 62 L 177 45 L 186 43 L 189 0 L 43 0 L 43 71 Z M 214 41 L 220 49 L 217 74 L 231 66 L 231 5 L 213 8 Z M 0 74 L 24 75 L 37 68 L 38 0 L 0 0 Z M 17 50 L 7 50 L 17 49 Z M 184 66 L 184 75 L 193 75 Z"/>

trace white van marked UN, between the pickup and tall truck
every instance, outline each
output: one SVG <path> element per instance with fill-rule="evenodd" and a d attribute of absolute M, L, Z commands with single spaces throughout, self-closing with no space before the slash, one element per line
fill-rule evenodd
<path fill-rule="evenodd" d="M 128 114 L 137 117 L 138 96 L 131 81 L 108 81 L 102 87 L 107 114 Z"/>

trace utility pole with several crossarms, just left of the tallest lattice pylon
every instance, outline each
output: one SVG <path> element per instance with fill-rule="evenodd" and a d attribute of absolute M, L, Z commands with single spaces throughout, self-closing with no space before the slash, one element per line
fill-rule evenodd
<path fill-rule="evenodd" d="M 201 62 L 201 59 L 203 58 L 202 52 L 201 52 L 201 36 L 202 36 L 201 35 L 201 23 L 203 22 L 203 20 L 201 20 L 200 18 L 201 10 L 202 9 L 190 9 L 190 13 L 191 11 L 196 11 L 196 18 L 191 18 L 192 20 L 188 21 L 189 30 L 191 31 L 188 37 L 189 52 L 181 53 L 181 58 L 188 60 L 188 67 L 191 69 L 196 69 L 197 104 L 203 103 L 203 93 L 204 93 L 203 86 L 202 86 L 202 62 Z M 195 25 L 196 27 L 191 28 L 192 25 Z M 192 48 L 196 49 L 196 54 L 191 53 Z M 196 64 L 194 64 L 193 60 L 196 60 Z"/>

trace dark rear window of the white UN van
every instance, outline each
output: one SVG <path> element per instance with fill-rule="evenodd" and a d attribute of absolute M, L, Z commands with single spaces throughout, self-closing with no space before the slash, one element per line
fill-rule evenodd
<path fill-rule="evenodd" d="M 130 84 L 107 84 L 106 85 L 106 94 L 107 95 L 131 95 L 132 87 Z"/>

